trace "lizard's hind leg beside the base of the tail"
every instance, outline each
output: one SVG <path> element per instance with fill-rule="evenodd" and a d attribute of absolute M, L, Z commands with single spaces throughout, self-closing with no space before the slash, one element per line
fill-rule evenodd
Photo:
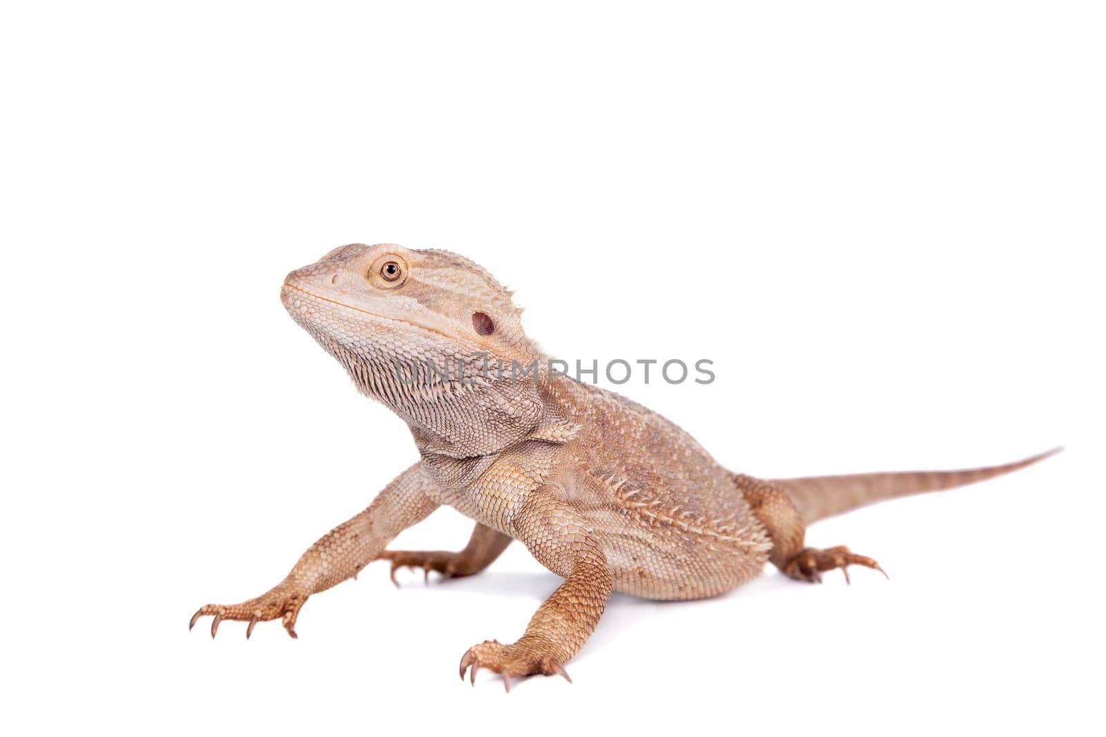
<path fill-rule="evenodd" d="M 772 538 L 769 560 L 791 578 L 821 583 L 822 573 L 841 568 L 848 582 L 849 566 L 874 568 L 887 576 L 875 560 L 852 552 L 845 546 L 825 550 L 804 547 L 806 524 L 783 488 L 752 476 L 735 475 L 733 482 L 749 502 L 753 514 L 768 528 L 769 537 Z"/>

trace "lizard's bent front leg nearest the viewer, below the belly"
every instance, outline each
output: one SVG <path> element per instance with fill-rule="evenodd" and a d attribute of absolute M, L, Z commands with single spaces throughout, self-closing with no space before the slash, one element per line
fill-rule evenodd
<path fill-rule="evenodd" d="M 515 675 L 559 673 L 568 678 L 564 663 L 595 630 L 614 586 L 597 538 L 555 495 L 534 492 L 515 518 L 514 531 L 539 561 L 565 580 L 538 609 L 518 642 L 489 640 L 461 657 L 462 678 L 471 666 L 474 683 L 477 670 L 486 667 L 501 674 L 508 689 Z"/>

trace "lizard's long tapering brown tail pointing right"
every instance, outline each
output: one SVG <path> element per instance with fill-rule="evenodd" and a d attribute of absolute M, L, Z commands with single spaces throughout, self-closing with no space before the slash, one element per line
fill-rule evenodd
<path fill-rule="evenodd" d="M 863 507 L 866 504 L 891 499 L 897 496 L 938 492 L 953 486 L 1000 476 L 1024 468 L 1064 450 L 1054 448 L 1039 455 L 999 466 L 964 468 L 962 471 L 905 471 L 900 473 L 859 473 L 844 476 L 807 476 L 803 478 L 773 478 L 787 492 L 807 525 L 818 519 Z"/>

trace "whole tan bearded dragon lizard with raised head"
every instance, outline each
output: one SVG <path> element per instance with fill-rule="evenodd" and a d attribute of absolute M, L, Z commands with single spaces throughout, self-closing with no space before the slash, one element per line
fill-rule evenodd
<path fill-rule="evenodd" d="M 512 540 L 563 582 L 512 643 L 465 651 L 460 675 L 562 675 L 612 592 L 655 600 L 716 597 L 772 564 L 821 582 L 848 567 L 883 571 L 845 546 L 807 547 L 806 527 L 893 497 L 950 488 L 1035 463 L 961 471 L 762 480 L 733 473 L 660 414 L 551 370 L 522 329 L 512 293 L 441 250 L 354 243 L 291 272 L 281 301 L 356 389 L 408 425 L 419 460 L 352 519 L 320 538 L 265 593 L 207 604 L 225 620 L 295 623 L 309 597 L 374 560 L 428 576 L 471 576 Z M 442 370 L 445 367 L 445 370 Z M 460 551 L 387 545 L 442 505 L 476 522 Z M 886 576 L 886 572 L 884 572 Z M 571 682 L 571 678 L 568 678 Z"/>

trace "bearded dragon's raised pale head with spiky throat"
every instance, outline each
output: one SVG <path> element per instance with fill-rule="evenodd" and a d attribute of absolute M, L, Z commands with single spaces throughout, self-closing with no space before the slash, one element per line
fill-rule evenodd
<path fill-rule="evenodd" d="M 468 259 L 390 243 L 343 245 L 289 274 L 281 301 L 363 393 L 455 451 L 487 452 L 540 419 L 532 380 L 495 376 L 498 366 L 529 366 L 540 351 L 511 293 Z M 460 413 L 453 422 L 471 424 L 479 413 L 502 430 L 465 438 L 463 428 L 447 427 L 450 408 Z"/>

